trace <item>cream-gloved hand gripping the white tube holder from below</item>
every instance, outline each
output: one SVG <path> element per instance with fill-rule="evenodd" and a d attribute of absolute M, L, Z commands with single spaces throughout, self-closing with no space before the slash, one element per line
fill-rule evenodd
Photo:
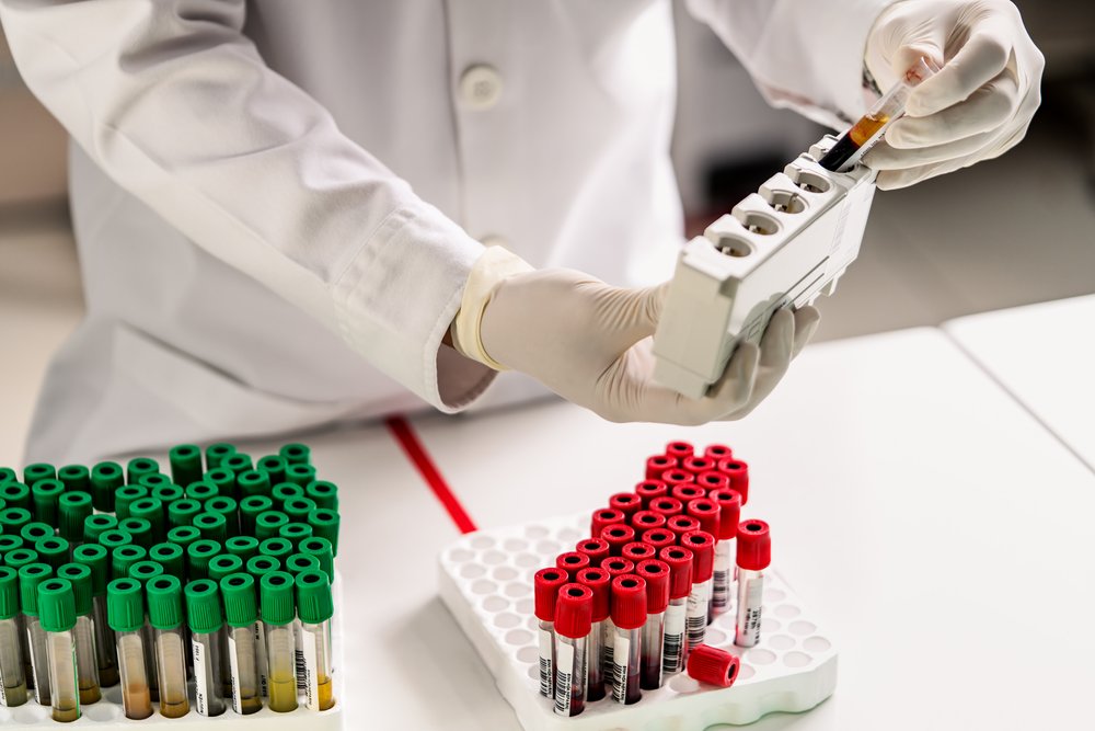
<path fill-rule="evenodd" d="M 492 248 L 484 258 L 507 255 Z M 476 265 L 480 273 L 489 269 Z M 760 347 L 740 345 L 710 395 L 690 399 L 654 381 L 650 336 L 667 285 L 625 289 L 573 270 L 527 265 L 486 279 L 486 286 L 470 287 L 479 290 L 472 301 L 468 292 L 461 301 L 457 349 L 492 367 L 526 373 L 615 422 L 702 424 L 745 416 L 775 388 L 820 319 L 812 307 L 776 312 Z M 477 333 L 470 321 L 476 313 Z"/>

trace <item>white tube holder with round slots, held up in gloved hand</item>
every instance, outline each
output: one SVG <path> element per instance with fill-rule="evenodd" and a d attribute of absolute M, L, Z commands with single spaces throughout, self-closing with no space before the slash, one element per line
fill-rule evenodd
<path fill-rule="evenodd" d="M 681 250 L 654 335 L 658 382 L 701 398 L 779 308 L 835 290 L 860 253 L 875 192 L 863 164 L 818 164 L 835 142 L 818 140 Z"/>

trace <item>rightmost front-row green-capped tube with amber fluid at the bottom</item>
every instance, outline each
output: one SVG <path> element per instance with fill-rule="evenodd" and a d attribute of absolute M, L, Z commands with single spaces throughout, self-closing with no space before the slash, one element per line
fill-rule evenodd
<path fill-rule="evenodd" d="M 335 705 L 331 666 L 331 617 L 334 602 L 331 583 L 322 571 L 297 574 L 297 614 L 304 646 L 304 696 L 310 710 L 327 710 Z"/>

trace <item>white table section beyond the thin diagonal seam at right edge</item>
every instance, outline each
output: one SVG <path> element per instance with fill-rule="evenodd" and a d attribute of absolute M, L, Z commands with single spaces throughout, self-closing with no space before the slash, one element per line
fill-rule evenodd
<path fill-rule="evenodd" d="M 1095 295 L 975 315 L 944 329 L 1095 470 Z"/>

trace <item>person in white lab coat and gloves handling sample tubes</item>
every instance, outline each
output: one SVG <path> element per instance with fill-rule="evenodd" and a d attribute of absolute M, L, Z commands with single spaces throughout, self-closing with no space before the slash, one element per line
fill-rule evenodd
<path fill-rule="evenodd" d="M 881 187 L 1000 155 L 1038 105 L 1008 2 L 688 8 L 773 104 L 834 127 L 872 80 L 945 61 L 872 153 Z M 453 412 L 503 369 L 615 421 L 736 419 L 816 325 L 777 313 L 706 398 L 652 380 L 650 285 L 681 243 L 669 0 L 0 0 L 0 20 L 72 137 L 88 305 L 27 459 Z"/>

